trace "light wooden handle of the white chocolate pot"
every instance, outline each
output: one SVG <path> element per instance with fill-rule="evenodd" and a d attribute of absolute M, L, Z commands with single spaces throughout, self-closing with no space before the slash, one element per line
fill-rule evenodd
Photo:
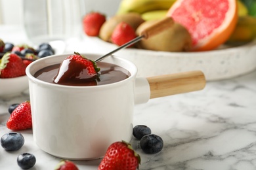
<path fill-rule="evenodd" d="M 202 90 L 206 83 L 202 71 L 153 76 L 146 79 L 150 84 L 150 99 Z"/>

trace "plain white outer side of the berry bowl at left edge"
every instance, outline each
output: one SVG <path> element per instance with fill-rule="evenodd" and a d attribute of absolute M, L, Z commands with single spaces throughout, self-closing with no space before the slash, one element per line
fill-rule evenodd
<path fill-rule="evenodd" d="M 0 78 L 0 99 L 7 99 L 20 95 L 28 90 L 28 76 L 18 76 L 15 78 Z"/>

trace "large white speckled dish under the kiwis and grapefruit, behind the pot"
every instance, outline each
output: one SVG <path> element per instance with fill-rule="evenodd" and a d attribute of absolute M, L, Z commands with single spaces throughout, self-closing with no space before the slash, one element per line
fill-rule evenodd
<path fill-rule="evenodd" d="M 98 38 L 89 38 L 103 52 L 116 45 Z M 206 80 L 223 80 L 244 75 L 256 69 L 256 40 L 236 47 L 221 46 L 207 52 L 161 52 L 127 48 L 114 55 L 137 65 L 138 76 L 156 76 L 183 71 L 201 70 Z"/>

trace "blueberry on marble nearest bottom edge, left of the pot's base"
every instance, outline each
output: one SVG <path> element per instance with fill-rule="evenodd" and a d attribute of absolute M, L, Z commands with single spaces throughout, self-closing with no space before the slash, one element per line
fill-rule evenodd
<path fill-rule="evenodd" d="M 20 154 L 17 158 L 17 163 L 22 169 L 30 169 L 35 165 L 35 156 L 30 153 Z"/>

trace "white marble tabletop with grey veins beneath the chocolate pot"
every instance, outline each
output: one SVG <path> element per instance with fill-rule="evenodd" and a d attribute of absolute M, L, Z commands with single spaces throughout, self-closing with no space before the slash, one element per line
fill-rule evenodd
<path fill-rule="evenodd" d="M 0 136 L 10 131 L 5 127 L 9 105 L 29 99 L 28 93 L 0 99 Z M 164 141 L 163 150 L 153 155 L 144 154 L 139 141 L 131 141 L 142 158 L 140 170 L 256 169 L 256 71 L 207 82 L 202 91 L 136 105 L 137 124 L 149 126 Z M 20 150 L 7 152 L 0 147 L 0 169 L 20 169 L 16 158 L 23 152 L 35 155 L 37 162 L 32 169 L 54 169 L 60 159 L 36 146 L 32 130 L 20 133 L 25 137 Z M 74 162 L 79 169 L 97 169 L 100 160 Z"/>

